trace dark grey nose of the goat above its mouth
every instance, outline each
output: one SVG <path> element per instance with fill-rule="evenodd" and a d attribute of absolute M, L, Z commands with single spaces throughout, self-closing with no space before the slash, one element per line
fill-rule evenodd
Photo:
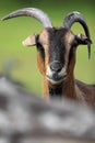
<path fill-rule="evenodd" d="M 50 64 L 50 69 L 52 72 L 60 72 L 62 69 L 62 64 L 60 62 L 52 62 Z"/>

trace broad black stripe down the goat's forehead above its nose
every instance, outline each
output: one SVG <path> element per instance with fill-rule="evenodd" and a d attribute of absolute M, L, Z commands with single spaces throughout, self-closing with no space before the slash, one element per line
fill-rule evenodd
<path fill-rule="evenodd" d="M 49 29 L 49 56 L 50 62 L 59 61 L 63 63 L 64 42 L 63 36 L 67 33 L 66 29 Z"/>

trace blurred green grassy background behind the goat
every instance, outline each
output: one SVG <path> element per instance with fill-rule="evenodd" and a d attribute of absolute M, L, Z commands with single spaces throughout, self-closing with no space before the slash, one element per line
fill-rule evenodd
<path fill-rule="evenodd" d="M 44 10 L 55 26 L 61 26 L 63 18 L 71 11 L 80 11 L 90 26 L 92 58 L 87 58 L 86 46 L 79 46 L 76 52 L 75 78 L 87 84 L 95 82 L 95 1 L 94 0 L 0 0 L 0 19 L 5 14 L 26 7 Z M 32 18 L 16 18 L 0 22 L 0 72 L 7 61 L 16 64 L 12 77 L 22 81 L 29 91 L 41 94 L 41 75 L 37 69 L 36 48 L 24 47 L 22 41 L 32 33 L 39 33 L 41 24 Z M 84 33 L 80 24 L 72 28 L 74 33 Z"/>

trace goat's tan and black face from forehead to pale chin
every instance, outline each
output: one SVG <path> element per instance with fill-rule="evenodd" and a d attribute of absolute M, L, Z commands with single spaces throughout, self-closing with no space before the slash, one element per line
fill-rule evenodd
<path fill-rule="evenodd" d="M 68 76 L 70 63 L 74 61 L 75 35 L 64 28 L 49 28 L 36 35 L 35 42 L 33 36 L 26 38 L 24 45 L 27 40 L 31 42 L 29 45 L 35 43 L 37 46 L 37 63 L 40 73 L 52 84 L 63 81 Z"/>

